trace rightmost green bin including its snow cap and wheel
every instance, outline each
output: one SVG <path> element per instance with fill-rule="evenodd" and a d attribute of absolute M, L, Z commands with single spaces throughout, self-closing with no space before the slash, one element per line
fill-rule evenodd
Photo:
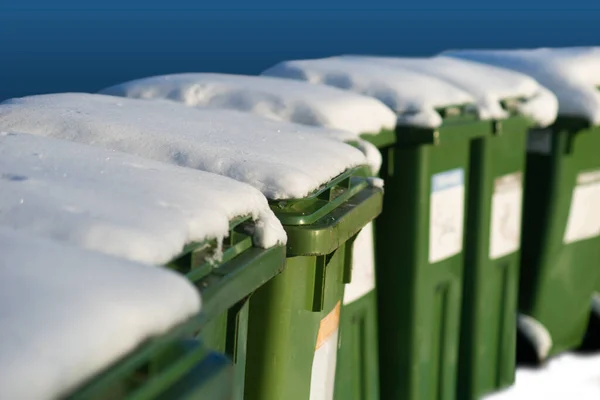
<path fill-rule="evenodd" d="M 596 50 L 448 55 L 529 74 L 559 100 L 555 123 L 529 133 L 525 177 L 518 355 L 538 364 L 580 345 L 600 279 L 597 82 L 586 81 L 597 69 Z"/>

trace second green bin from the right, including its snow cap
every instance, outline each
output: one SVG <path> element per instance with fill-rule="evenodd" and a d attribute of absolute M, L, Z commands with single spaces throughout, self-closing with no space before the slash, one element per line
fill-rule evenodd
<path fill-rule="evenodd" d="M 536 110 L 533 114 L 540 121 L 529 120 L 519 114 L 520 105 L 536 96 L 546 96 L 552 106 L 555 99 L 525 75 L 469 61 L 446 57 L 364 61 L 443 79 L 471 93 L 478 100 L 479 112 L 495 118 L 487 123 L 485 135 L 471 142 L 464 237 L 456 396 L 478 399 L 512 385 L 515 379 L 527 130 L 538 122 L 550 123 L 547 115 L 556 115 L 554 108 Z M 494 76 L 491 82 L 490 76 Z M 537 92 L 522 89 L 526 86 Z M 494 98 L 507 118 L 487 109 L 487 102 Z"/>

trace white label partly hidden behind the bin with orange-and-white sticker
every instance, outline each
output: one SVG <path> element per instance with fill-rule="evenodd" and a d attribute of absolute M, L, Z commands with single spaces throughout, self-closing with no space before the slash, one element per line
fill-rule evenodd
<path fill-rule="evenodd" d="M 344 304 L 375 289 L 375 252 L 373 248 L 373 223 L 367 224 L 358 234 L 352 249 L 352 280 L 344 289 Z"/>

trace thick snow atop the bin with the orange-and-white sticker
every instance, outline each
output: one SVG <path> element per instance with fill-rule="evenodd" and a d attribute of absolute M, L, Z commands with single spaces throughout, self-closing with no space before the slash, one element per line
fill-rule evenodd
<path fill-rule="evenodd" d="M 0 104 L 0 131 L 62 138 L 245 182 L 269 199 L 302 198 L 366 165 L 328 130 L 161 100 L 62 93 Z M 335 131 L 334 131 L 335 132 Z"/>

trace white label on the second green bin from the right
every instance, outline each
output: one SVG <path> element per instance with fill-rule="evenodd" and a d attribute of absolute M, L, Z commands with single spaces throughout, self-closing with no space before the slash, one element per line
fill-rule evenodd
<path fill-rule="evenodd" d="M 490 259 L 495 260 L 519 250 L 523 174 L 504 175 L 494 181 L 490 221 Z"/>

